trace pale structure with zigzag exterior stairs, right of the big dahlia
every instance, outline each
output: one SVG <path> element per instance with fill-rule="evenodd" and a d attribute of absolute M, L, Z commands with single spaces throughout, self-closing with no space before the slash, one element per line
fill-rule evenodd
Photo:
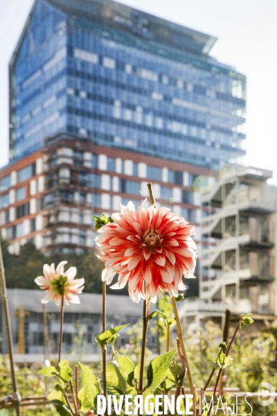
<path fill-rule="evenodd" d="M 202 195 L 202 252 L 199 299 L 187 300 L 186 324 L 230 309 L 237 318 L 253 313 L 268 325 L 277 313 L 277 187 L 271 171 L 229 166 Z"/>

